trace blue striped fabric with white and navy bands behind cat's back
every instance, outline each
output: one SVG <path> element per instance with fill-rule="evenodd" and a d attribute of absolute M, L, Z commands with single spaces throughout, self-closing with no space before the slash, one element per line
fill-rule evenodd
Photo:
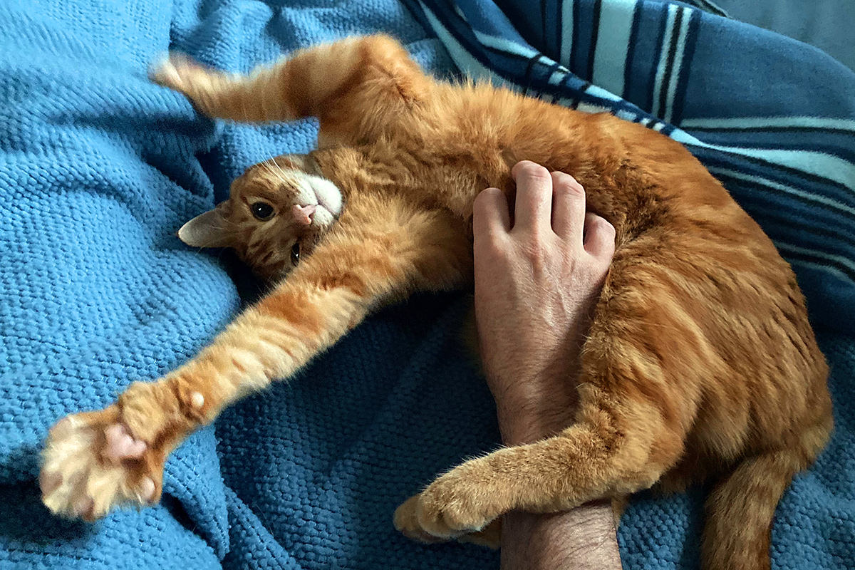
<path fill-rule="evenodd" d="M 855 333 L 855 73 L 696 3 L 410 1 L 461 72 L 685 144 Z"/>

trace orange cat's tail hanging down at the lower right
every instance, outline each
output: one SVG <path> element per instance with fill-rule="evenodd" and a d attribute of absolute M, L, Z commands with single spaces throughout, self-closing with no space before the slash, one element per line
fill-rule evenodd
<path fill-rule="evenodd" d="M 799 444 L 740 462 L 706 501 L 701 546 L 704 570 L 769 570 L 775 508 L 799 471 L 809 467 L 831 432 L 831 420 L 807 430 Z"/>

